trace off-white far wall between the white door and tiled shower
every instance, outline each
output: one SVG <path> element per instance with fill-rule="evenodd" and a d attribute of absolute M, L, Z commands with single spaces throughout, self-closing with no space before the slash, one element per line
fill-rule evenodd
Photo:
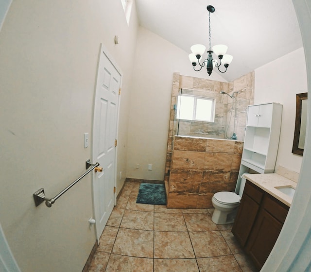
<path fill-rule="evenodd" d="M 226 82 L 216 72 L 195 72 L 187 52 L 139 27 L 128 130 L 127 177 L 163 180 L 173 73 Z M 136 169 L 139 164 L 140 168 Z M 152 164 L 152 170 L 147 170 Z"/>

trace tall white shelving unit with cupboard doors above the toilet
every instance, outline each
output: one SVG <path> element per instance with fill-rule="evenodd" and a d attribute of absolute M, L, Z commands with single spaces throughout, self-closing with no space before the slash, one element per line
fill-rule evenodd
<path fill-rule="evenodd" d="M 273 173 L 281 130 L 282 105 L 264 103 L 249 105 L 242 153 L 241 175 L 250 169 L 258 173 Z"/>

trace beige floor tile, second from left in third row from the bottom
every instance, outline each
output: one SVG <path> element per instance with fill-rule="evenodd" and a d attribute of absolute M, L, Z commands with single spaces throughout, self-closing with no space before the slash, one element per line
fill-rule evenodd
<path fill-rule="evenodd" d="M 138 230 L 154 230 L 154 213 L 125 210 L 120 227 Z"/>

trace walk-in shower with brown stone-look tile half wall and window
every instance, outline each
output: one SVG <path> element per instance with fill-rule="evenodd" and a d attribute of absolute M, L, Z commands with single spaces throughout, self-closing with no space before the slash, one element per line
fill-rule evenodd
<path fill-rule="evenodd" d="M 246 109 L 253 103 L 254 72 L 230 83 L 173 74 L 164 176 L 168 206 L 210 208 L 214 192 L 234 190 Z"/>

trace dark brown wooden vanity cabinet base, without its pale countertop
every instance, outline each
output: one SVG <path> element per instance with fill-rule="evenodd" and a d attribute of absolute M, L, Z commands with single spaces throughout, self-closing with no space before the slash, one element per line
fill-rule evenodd
<path fill-rule="evenodd" d="M 249 181 L 247 181 L 246 185 L 247 187 L 252 186 L 253 190 L 254 187 L 255 190 L 257 189 L 257 200 L 260 199 L 260 203 L 256 202 L 258 209 L 253 209 L 254 214 L 256 213 L 254 216 L 254 214 L 249 213 L 249 209 L 247 210 L 243 206 L 254 206 L 255 200 L 250 198 L 247 191 L 245 195 L 243 193 L 240 204 L 240 206 L 242 204 L 243 206 L 241 209 L 239 207 L 232 233 L 241 243 L 245 252 L 251 257 L 257 268 L 260 269 L 276 243 L 289 207 Z M 247 188 L 246 185 L 245 188 Z M 247 228 L 239 230 L 238 228 L 243 224 Z M 245 232 L 242 233 L 243 231 Z"/>

